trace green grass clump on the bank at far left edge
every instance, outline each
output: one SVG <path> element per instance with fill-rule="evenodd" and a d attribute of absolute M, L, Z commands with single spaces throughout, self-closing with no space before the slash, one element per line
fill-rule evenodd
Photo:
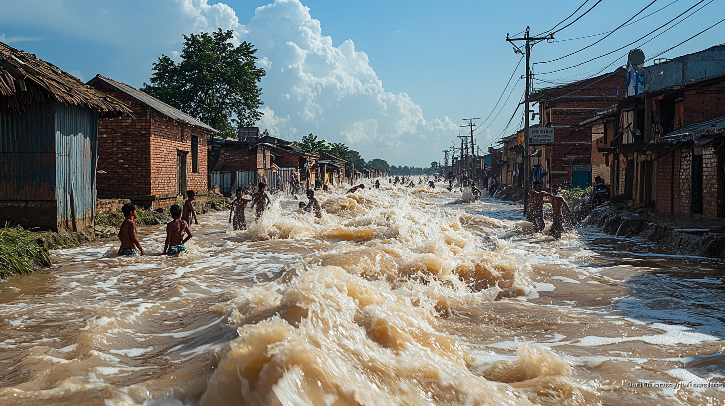
<path fill-rule="evenodd" d="M 0 278 L 33 272 L 51 265 L 49 244 L 38 239 L 42 237 L 20 227 L 9 227 L 6 224 L 0 228 Z"/>

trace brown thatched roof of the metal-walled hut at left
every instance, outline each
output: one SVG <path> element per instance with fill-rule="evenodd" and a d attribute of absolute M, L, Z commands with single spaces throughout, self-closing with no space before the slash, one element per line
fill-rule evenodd
<path fill-rule="evenodd" d="M 101 115 L 131 114 L 120 101 L 86 86 L 70 73 L 0 42 L 0 114 L 21 115 L 28 104 L 49 99 L 98 110 Z"/>

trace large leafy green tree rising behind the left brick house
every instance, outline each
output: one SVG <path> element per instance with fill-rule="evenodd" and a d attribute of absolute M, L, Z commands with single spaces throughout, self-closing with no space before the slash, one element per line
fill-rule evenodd
<path fill-rule="evenodd" d="M 154 74 L 141 90 L 236 137 L 239 127 L 249 127 L 262 117 L 262 89 L 257 83 L 265 70 L 257 67 L 251 43 L 233 46 L 233 32 L 221 28 L 211 34 L 183 36 L 181 62 L 162 54 Z"/>

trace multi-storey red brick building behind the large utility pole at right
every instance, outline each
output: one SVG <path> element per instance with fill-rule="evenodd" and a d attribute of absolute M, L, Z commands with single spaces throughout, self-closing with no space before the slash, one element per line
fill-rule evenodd
<path fill-rule="evenodd" d="M 615 104 L 626 89 L 626 69 L 564 86 L 534 91 L 529 101 L 539 102 L 539 123 L 554 128 L 554 142 L 534 144 L 547 172 L 547 186 L 589 186 L 592 183 L 592 132 L 577 128 L 593 112 Z"/>

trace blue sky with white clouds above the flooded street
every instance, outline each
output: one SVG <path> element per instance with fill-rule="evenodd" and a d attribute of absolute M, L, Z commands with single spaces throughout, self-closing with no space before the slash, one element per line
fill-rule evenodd
<path fill-rule="evenodd" d="M 583 1 L 6 0 L 0 41 L 85 80 L 101 73 L 139 87 L 160 54 L 173 56 L 181 50 L 183 33 L 233 29 L 239 40 L 260 49 L 260 64 L 268 70 L 261 83 L 262 128 L 288 139 L 315 133 L 349 144 L 366 159 L 427 166 L 442 160 L 441 151 L 458 135 L 461 119 L 485 118 L 492 112 L 519 59 L 504 41 L 506 33 L 518 34 L 526 25 L 533 34 L 542 33 Z M 579 54 L 535 65 L 534 72 L 569 67 L 625 46 L 697 4 L 673 1 L 655 1 L 634 20 L 665 8 Z M 721 20 L 723 1 L 709 1 L 642 46 L 645 54 L 663 51 Z M 562 40 L 613 30 L 650 2 L 602 1 L 557 33 L 555 42 L 534 46 L 531 60 L 541 62 L 581 49 L 602 37 Z M 595 3 L 589 0 L 577 15 Z M 657 33 L 608 57 L 537 78 L 557 83 L 584 78 Z M 699 51 L 724 38 L 725 22 L 662 57 Z M 512 84 L 522 73 L 523 64 Z M 500 114 L 501 104 L 494 111 L 491 118 L 498 114 L 496 120 L 489 119 L 477 130 L 481 146 L 505 128 L 522 93 L 523 80 Z M 507 96 L 508 91 L 504 99 Z M 505 133 L 512 133 L 519 122 L 516 117 Z"/>

